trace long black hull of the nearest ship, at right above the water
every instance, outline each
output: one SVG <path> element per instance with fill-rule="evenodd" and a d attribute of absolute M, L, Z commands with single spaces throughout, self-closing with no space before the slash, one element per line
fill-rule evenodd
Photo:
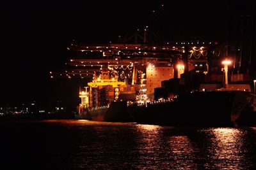
<path fill-rule="evenodd" d="M 138 124 L 172 126 L 230 126 L 250 108 L 249 92 L 221 91 L 182 94 L 175 101 L 130 106 Z"/>

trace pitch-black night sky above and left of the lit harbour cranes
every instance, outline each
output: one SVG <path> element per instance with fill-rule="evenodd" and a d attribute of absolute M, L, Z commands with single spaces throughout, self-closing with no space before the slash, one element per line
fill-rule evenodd
<path fill-rule="evenodd" d="M 11 1 L 0 7 L 0 102 L 77 99 L 77 82 L 52 81 L 48 75 L 64 66 L 72 39 L 115 42 L 119 35 L 149 25 L 166 41 L 182 39 L 184 32 L 189 38 L 225 41 L 228 18 L 250 13 L 252 4 L 227 0 Z"/>

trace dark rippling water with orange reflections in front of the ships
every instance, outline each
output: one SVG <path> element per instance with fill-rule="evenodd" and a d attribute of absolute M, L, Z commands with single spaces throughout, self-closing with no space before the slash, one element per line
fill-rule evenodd
<path fill-rule="evenodd" d="M 1 122 L 0 169 L 256 169 L 254 127 Z"/>

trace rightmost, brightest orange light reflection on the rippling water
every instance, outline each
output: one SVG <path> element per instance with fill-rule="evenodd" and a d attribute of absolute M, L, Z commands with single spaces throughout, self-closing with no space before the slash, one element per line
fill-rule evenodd
<path fill-rule="evenodd" d="M 211 153 L 211 162 L 214 162 L 216 169 L 248 169 L 252 160 L 246 158 L 246 129 L 236 128 L 212 128 L 204 129 L 211 138 L 211 145 L 208 152 Z M 255 146 L 253 146 L 255 148 Z"/>

